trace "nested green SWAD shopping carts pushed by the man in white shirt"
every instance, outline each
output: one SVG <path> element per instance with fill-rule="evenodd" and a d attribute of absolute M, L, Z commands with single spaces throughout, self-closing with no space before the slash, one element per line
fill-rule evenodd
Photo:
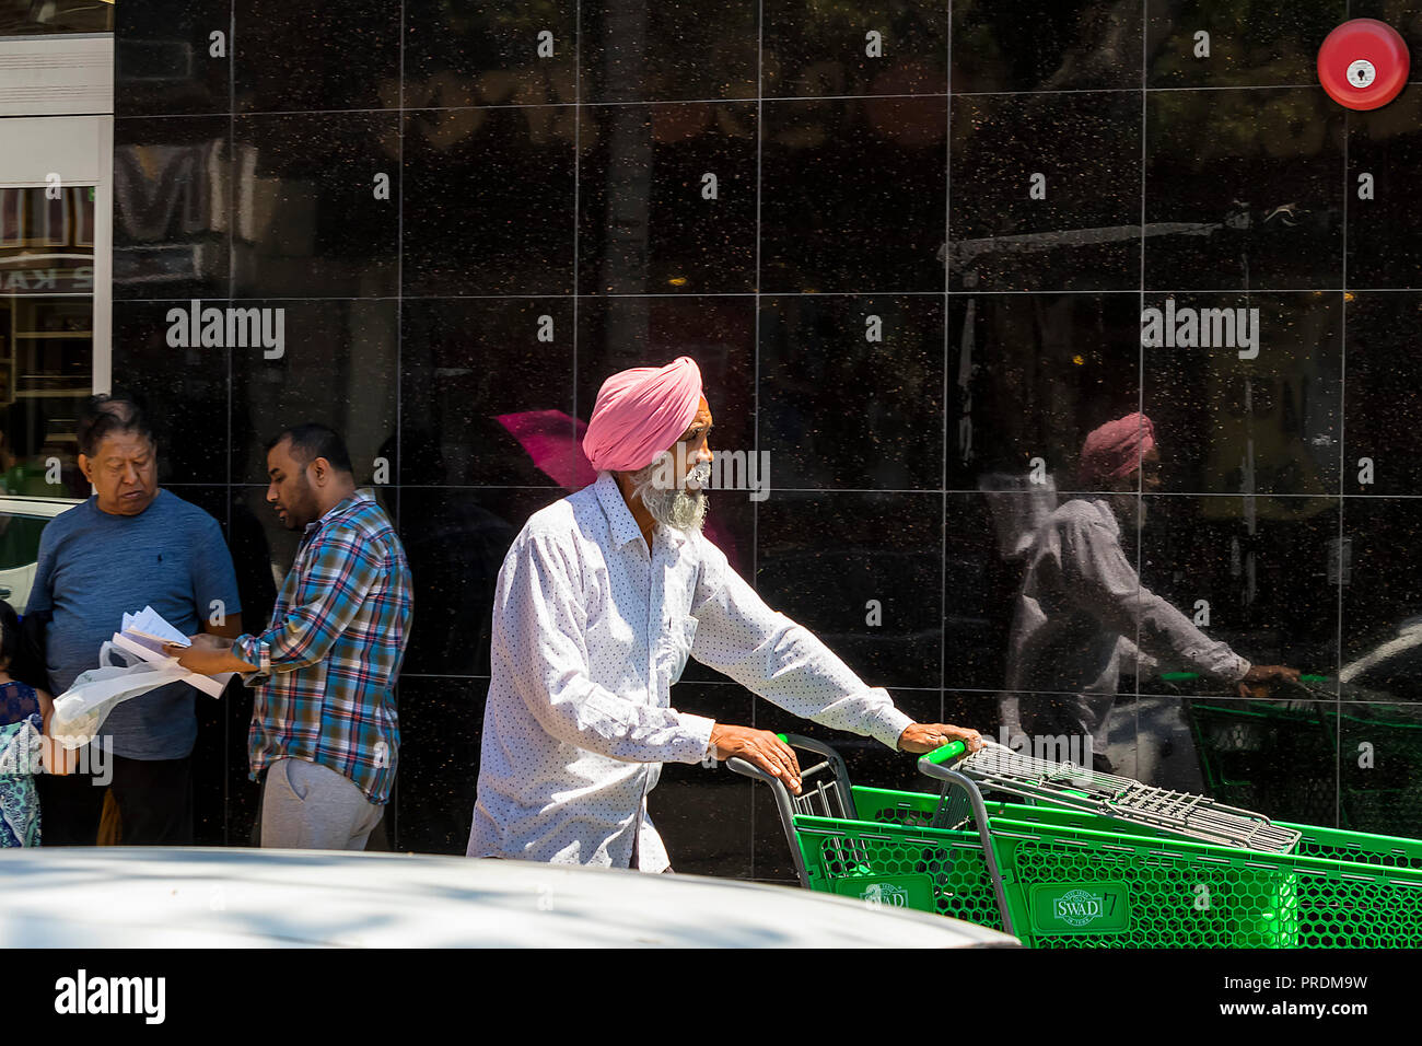
<path fill-rule="evenodd" d="M 1038 948 L 1422 945 L 1422 841 L 1271 824 L 997 750 L 951 766 L 961 744 L 919 761 L 937 794 L 865 788 L 833 749 L 785 740 L 822 757 L 801 796 L 731 767 L 772 788 L 809 889 L 936 911 Z M 984 787 L 1032 804 L 985 800 Z"/>

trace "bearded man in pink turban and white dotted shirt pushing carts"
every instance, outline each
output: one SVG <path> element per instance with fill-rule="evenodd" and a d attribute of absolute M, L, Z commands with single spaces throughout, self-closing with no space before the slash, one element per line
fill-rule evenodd
<path fill-rule="evenodd" d="M 469 857 L 665 871 L 647 817 L 664 761 L 738 756 L 799 791 L 774 733 L 671 707 L 688 656 L 889 747 L 981 743 L 910 720 L 729 568 L 701 534 L 710 431 L 690 357 L 603 383 L 583 438 L 597 481 L 535 512 L 499 572 Z"/>

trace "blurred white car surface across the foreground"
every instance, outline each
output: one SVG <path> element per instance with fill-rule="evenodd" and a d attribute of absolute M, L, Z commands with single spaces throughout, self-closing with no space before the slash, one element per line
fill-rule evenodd
<path fill-rule="evenodd" d="M 796 887 L 435 854 L 0 851 L 0 948 L 1012 948 Z"/>

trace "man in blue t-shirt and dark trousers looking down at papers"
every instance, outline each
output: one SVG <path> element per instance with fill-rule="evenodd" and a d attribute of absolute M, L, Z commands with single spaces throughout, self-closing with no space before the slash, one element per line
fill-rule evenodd
<path fill-rule="evenodd" d="M 124 613 L 152 606 L 183 635 L 242 635 L 232 555 L 218 521 L 158 488 L 158 450 L 129 400 L 95 396 L 78 426 L 80 468 L 95 494 L 44 528 L 27 613 L 48 613 L 53 693 L 98 666 L 100 646 Z M 189 757 L 198 692 L 172 683 L 118 704 L 95 744 L 112 764 L 124 845 L 191 845 Z M 91 761 L 92 764 L 92 761 Z M 92 845 L 102 790 L 91 776 L 54 778 L 41 791 L 44 841 Z"/>

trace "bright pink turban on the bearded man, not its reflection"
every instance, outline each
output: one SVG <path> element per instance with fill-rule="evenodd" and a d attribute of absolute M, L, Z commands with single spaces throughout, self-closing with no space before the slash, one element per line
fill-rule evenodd
<path fill-rule="evenodd" d="M 671 450 L 701 401 L 701 369 L 690 356 L 665 367 L 633 367 L 603 381 L 583 437 L 597 471 L 631 472 Z"/>

